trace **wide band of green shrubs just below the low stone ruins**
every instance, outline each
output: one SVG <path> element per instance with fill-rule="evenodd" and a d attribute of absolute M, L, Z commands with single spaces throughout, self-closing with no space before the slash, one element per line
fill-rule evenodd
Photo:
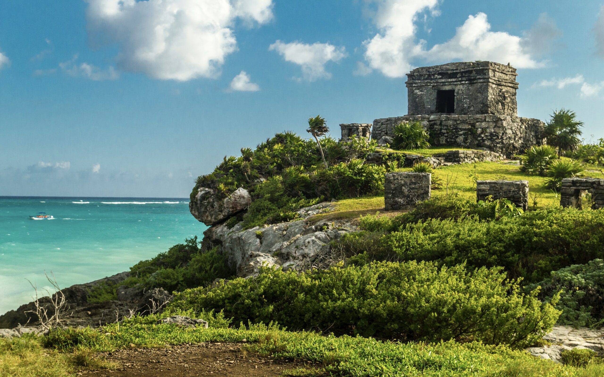
<path fill-rule="evenodd" d="M 463 214 L 464 209 L 452 211 Z M 524 277 L 527 282 L 538 282 L 562 267 L 604 258 L 604 211 L 547 208 L 496 221 L 475 216 L 418 223 L 401 220 L 364 217 L 361 227 L 367 230 L 345 235 L 336 246 L 345 255 L 365 252 L 358 261 L 419 260 L 446 265 L 467 261 L 470 268 L 502 266 L 509 277 Z"/>

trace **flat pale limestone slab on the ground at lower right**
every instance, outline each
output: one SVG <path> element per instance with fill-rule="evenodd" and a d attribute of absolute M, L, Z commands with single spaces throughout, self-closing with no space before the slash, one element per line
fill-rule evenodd
<path fill-rule="evenodd" d="M 540 358 L 560 361 L 563 350 L 588 348 L 596 352 L 604 350 L 604 329 L 575 329 L 570 326 L 555 326 L 550 334 L 543 337 L 551 346 L 530 347 L 527 351 Z"/>

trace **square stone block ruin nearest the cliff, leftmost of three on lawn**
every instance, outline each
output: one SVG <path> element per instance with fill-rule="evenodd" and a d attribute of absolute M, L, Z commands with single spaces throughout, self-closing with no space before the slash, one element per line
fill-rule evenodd
<path fill-rule="evenodd" d="M 430 173 L 388 173 L 384 180 L 386 211 L 410 209 L 432 194 Z"/>

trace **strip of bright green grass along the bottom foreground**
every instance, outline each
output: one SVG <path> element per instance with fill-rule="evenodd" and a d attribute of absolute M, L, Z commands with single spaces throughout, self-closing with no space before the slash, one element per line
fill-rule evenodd
<path fill-rule="evenodd" d="M 95 361 L 92 352 L 128 347 L 169 348 L 207 341 L 245 342 L 242 347 L 248 352 L 312 363 L 308 368 L 284 372 L 290 376 L 596 377 L 604 373 L 603 364 L 590 364 L 587 368 L 562 366 L 521 350 L 480 343 L 400 343 L 290 332 L 264 325 L 250 329 L 191 329 L 149 322 L 135 318 L 121 326 L 71 329 L 45 337 L 0 338 L 0 376 L 75 376 L 82 364 L 89 364 L 93 370 L 116 367 Z"/>

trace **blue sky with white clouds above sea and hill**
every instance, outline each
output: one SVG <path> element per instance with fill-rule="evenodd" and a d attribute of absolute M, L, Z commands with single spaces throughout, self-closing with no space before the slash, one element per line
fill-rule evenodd
<path fill-rule="evenodd" d="M 577 5 L 580 4 L 580 5 Z M 0 195 L 186 197 L 277 131 L 406 113 L 405 73 L 518 68 L 603 138 L 604 2 L 4 0 Z"/>

